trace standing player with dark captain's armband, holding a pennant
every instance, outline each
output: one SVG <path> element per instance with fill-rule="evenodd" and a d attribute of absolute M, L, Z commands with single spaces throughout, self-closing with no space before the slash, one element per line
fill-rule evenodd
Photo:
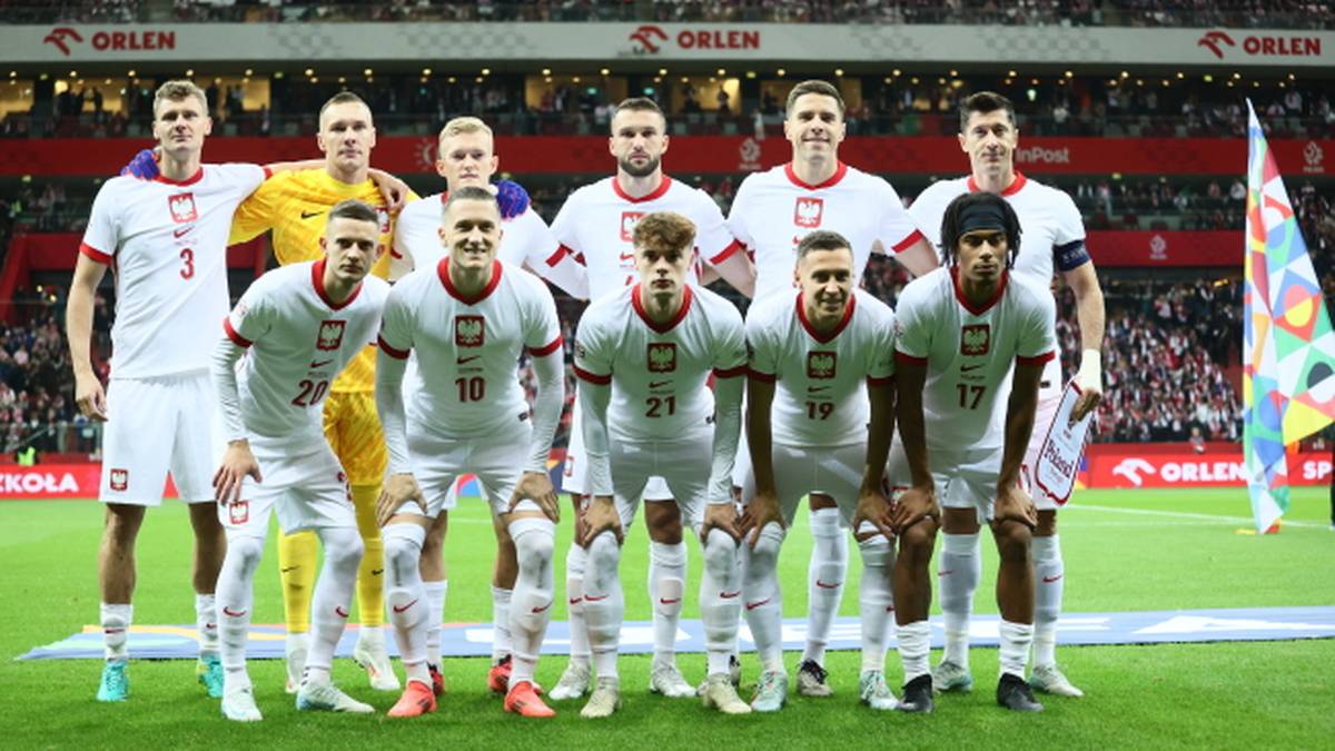
<path fill-rule="evenodd" d="M 1007 199 L 1020 218 L 1024 251 L 1016 257 L 1011 274 L 1023 282 L 1048 289 L 1053 271 L 1075 293 L 1083 355 L 1076 384 L 1080 400 L 1075 416 L 1095 409 L 1103 393 L 1101 357 L 1104 333 L 1103 290 L 1084 245 L 1084 224 L 1071 196 L 1027 178 L 1015 168 L 1019 131 L 1015 107 L 1000 94 L 977 92 L 960 104 L 960 148 L 969 155 L 971 174 L 941 180 L 922 191 L 909 212 L 934 238 L 945 206 L 967 192 L 985 191 Z M 1056 321 L 1052 322 L 1053 326 Z M 1021 477 L 1039 509 L 1033 532 L 1033 564 L 1037 588 L 1033 621 L 1033 688 L 1063 696 L 1084 694 L 1057 669 L 1057 617 L 1065 587 L 1065 567 L 1057 537 L 1057 500 L 1035 482 L 1039 450 L 1061 402 L 1061 361 L 1055 358 L 1043 370 L 1039 385 L 1039 413 L 1024 456 Z M 943 520 L 939 581 L 945 616 L 945 655 L 933 672 L 937 691 L 969 691 L 969 615 L 973 592 L 981 576 L 979 518 L 972 508 L 948 508 Z"/>

